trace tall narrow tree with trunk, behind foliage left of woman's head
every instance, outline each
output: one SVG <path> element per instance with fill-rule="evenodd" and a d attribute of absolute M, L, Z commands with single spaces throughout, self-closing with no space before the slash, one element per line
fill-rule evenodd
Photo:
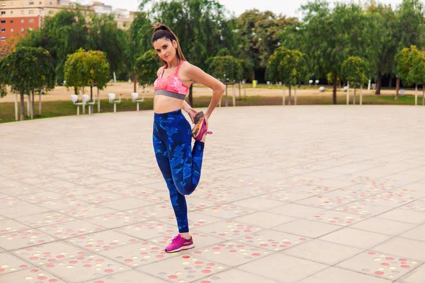
<path fill-rule="evenodd" d="M 137 12 L 130 26 L 130 39 L 128 42 L 128 69 L 134 82 L 133 92 L 137 92 L 136 60 L 148 50 L 152 50 L 151 35 L 152 23 L 147 13 Z M 152 74 L 155 75 L 154 72 Z"/>

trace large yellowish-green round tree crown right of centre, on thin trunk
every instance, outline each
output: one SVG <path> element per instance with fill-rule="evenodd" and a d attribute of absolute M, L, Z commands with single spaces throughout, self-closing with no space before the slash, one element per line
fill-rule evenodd
<path fill-rule="evenodd" d="M 266 77 L 272 82 L 282 81 L 294 86 L 309 79 L 307 58 L 298 50 L 279 47 L 268 59 Z"/>

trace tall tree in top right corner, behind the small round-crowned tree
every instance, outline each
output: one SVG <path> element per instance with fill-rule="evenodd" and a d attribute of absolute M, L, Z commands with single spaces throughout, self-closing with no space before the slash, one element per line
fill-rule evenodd
<path fill-rule="evenodd" d="M 424 4 L 419 0 L 403 0 L 396 11 L 396 41 L 397 52 L 415 45 L 419 49 L 424 46 Z M 395 66 L 398 66 L 395 65 Z M 398 69 L 398 67 L 395 67 Z M 396 99 L 399 93 L 399 79 L 397 77 Z"/>

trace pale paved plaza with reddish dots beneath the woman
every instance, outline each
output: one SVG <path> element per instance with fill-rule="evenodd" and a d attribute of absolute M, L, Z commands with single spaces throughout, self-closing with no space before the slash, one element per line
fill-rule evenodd
<path fill-rule="evenodd" d="M 424 107 L 217 108 L 174 254 L 152 122 L 0 125 L 1 283 L 425 282 Z"/>

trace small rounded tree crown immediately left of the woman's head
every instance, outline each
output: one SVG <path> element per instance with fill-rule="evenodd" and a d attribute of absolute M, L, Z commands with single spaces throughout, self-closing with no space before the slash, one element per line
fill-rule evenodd
<path fill-rule="evenodd" d="M 137 81 L 140 86 L 147 86 L 154 84 L 157 79 L 156 70 L 161 67 L 157 52 L 149 50 L 142 54 L 136 60 L 135 68 L 137 72 Z"/>

